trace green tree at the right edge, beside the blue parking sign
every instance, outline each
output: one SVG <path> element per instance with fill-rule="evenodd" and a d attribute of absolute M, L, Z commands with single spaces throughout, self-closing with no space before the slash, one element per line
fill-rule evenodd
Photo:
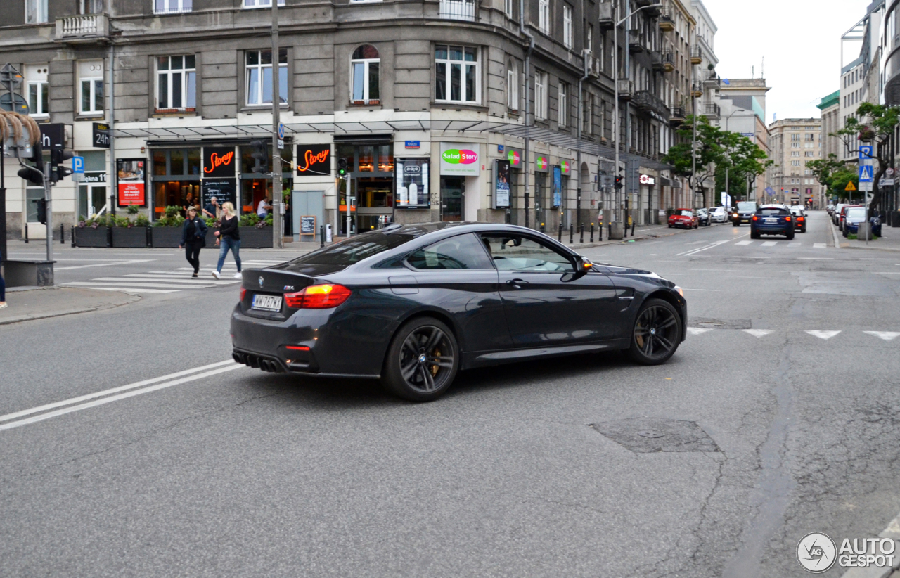
<path fill-rule="evenodd" d="M 896 108 L 889 108 L 884 104 L 862 103 L 856 109 L 856 116 L 849 117 L 844 128 L 832 133 L 832 136 L 840 137 L 847 149 L 852 152 L 859 152 L 860 142 L 872 145 L 871 158 L 877 161 L 877 164 L 873 166 L 875 178 L 872 183 L 869 214 L 881 203 L 878 181 L 885 176 L 887 167 L 891 165 L 890 150 L 886 145 L 894 133 L 897 122 L 900 122 L 900 112 Z"/>

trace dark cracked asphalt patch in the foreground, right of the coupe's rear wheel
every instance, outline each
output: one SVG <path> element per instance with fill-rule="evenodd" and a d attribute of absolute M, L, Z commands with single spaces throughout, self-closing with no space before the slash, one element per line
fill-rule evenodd
<path fill-rule="evenodd" d="M 592 423 L 590 427 L 633 452 L 721 451 L 695 421 L 630 418 Z"/>

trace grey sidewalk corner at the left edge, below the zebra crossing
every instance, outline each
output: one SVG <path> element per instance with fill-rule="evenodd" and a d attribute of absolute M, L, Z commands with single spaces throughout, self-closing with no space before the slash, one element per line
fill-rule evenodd
<path fill-rule="evenodd" d="M 12 287 L 0 309 L 0 325 L 112 309 L 139 301 L 137 295 L 72 287 Z"/>

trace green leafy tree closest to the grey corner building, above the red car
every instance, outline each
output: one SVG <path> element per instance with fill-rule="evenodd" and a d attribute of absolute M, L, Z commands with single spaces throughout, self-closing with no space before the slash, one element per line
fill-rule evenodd
<path fill-rule="evenodd" d="M 694 138 L 694 122 L 697 122 L 697 174 L 694 174 L 694 159 L 691 157 L 691 142 Z M 689 114 L 681 124 L 676 134 L 679 137 L 678 144 L 669 148 L 662 160 L 672 166 L 672 172 L 688 179 L 690 190 L 696 191 L 699 186 L 704 188 L 704 183 L 716 174 L 716 162 L 721 160 L 722 139 L 725 134 L 709 123 L 706 116 L 695 117 Z M 703 194 L 703 206 L 707 203 L 707 194 Z"/>

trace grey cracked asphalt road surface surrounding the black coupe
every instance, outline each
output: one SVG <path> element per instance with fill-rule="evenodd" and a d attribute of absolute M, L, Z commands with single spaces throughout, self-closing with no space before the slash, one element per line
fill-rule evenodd
<path fill-rule="evenodd" d="M 0 327 L 0 573 L 805 575 L 800 537 L 875 536 L 900 512 L 900 339 L 866 333 L 900 331 L 900 255 L 829 247 L 826 222 L 791 243 L 727 225 L 588 249 L 684 288 L 669 364 L 494 367 L 428 404 L 220 363 L 236 284 Z M 76 257 L 153 260 L 58 282 L 186 266 Z M 600 433 L 679 424 L 716 451 Z"/>

